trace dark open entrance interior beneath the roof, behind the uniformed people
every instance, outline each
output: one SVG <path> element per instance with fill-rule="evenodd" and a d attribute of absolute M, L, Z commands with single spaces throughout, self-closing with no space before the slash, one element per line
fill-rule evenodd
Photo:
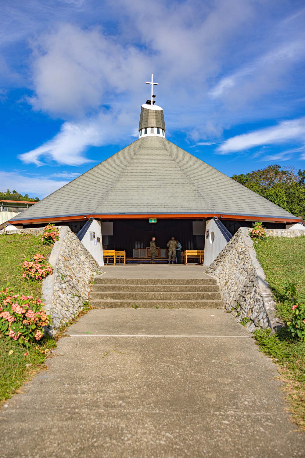
<path fill-rule="evenodd" d="M 201 220 L 202 221 L 202 220 Z M 103 235 L 104 250 L 126 251 L 127 262 L 149 262 L 150 240 L 155 236 L 155 244 L 160 248 L 158 262 L 167 260 L 167 242 L 171 237 L 182 245 L 184 250 L 203 250 L 204 235 L 193 235 L 193 220 L 190 219 L 158 219 L 150 223 L 148 219 L 116 219 L 103 220 L 112 223 L 112 235 Z M 110 229 L 111 231 L 111 229 Z M 111 232 L 110 232 L 111 233 Z M 139 251 L 141 250 L 141 251 Z"/>

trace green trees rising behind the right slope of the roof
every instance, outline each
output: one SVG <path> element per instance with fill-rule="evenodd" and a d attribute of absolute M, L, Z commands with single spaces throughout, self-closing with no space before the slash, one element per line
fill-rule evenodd
<path fill-rule="evenodd" d="M 305 218 L 305 170 L 268 165 L 231 178 L 293 215 Z"/>

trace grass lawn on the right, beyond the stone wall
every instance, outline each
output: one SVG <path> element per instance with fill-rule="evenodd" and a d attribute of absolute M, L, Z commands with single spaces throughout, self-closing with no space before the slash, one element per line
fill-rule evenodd
<path fill-rule="evenodd" d="M 305 294 L 305 236 L 268 237 L 254 243 L 257 258 L 277 302 L 278 316 L 289 321 L 291 304 L 284 302 L 284 280 L 297 283 L 298 294 Z M 294 422 L 305 430 L 305 342 L 290 337 L 286 328 L 278 333 L 259 329 L 254 335 L 261 351 L 279 365 L 284 391 L 290 401 Z"/>

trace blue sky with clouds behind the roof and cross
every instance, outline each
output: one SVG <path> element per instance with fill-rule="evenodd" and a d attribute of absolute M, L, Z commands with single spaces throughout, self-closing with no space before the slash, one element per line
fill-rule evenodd
<path fill-rule="evenodd" d="M 287 0 L 3 0 L 0 191 L 48 195 L 136 140 L 231 176 L 305 169 L 305 7 Z"/>

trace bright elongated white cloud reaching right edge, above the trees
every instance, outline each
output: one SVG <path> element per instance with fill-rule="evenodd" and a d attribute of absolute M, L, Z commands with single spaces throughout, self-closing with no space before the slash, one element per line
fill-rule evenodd
<path fill-rule="evenodd" d="M 305 117 L 282 121 L 276 126 L 259 129 L 249 134 L 231 137 L 217 148 L 220 154 L 243 151 L 259 145 L 271 145 L 290 140 L 305 140 Z"/>

